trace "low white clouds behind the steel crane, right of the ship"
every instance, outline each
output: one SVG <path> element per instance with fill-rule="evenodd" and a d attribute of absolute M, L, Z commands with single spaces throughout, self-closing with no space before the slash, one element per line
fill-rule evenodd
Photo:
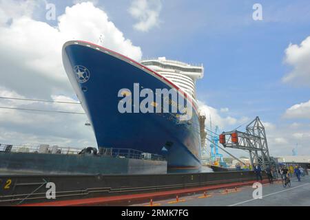
<path fill-rule="evenodd" d="M 213 130 L 216 125 L 220 127 L 220 131 L 218 131 L 218 133 L 221 133 L 222 131 L 231 131 L 241 124 L 242 126 L 238 128 L 238 131 L 245 131 L 245 126 L 252 120 L 252 118 L 234 118 L 231 116 L 223 117 L 223 115 L 220 115 L 220 111 L 218 111 L 218 109 L 209 107 L 204 102 L 198 101 L 198 106 L 200 111 L 205 113 L 207 119 L 205 125 L 207 129 L 209 129 L 209 115 L 211 115 Z M 293 122 L 289 125 L 276 125 L 263 120 L 263 118 L 260 118 L 260 120 L 265 126 L 269 153 L 271 156 L 276 157 L 278 155 L 291 155 L 291 151 L 293 147 L 296 146 L 296 143 L 298 143 L 299 155 L 310 154 L 310 124 Z M 236 156 L 246 155 L 244 151 L 238 151 L 230 148 L 227 149 L 227 151 Z M 223 154 L 225 155 L 225 153 Z"/>

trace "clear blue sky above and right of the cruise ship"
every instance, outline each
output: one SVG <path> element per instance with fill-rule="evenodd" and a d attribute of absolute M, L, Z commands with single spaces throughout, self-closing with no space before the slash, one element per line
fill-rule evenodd
<path fill-rule="evenodd" d="M 205 76 L 197 82 L 198 100 L 215 109 L 215 123 L 218 117 L 222 130 L 234 129 L 259 115 L 269 124 L 267 135 L 276 149 L 273 152 L 291 154 L 300 142 L 300 152 L 310 155 L 310 118 L 285 116 L 293 105 L 310 100 L 310 72 L 296 80 L 305 84 L 283 80 L 294 68 L 285 62 L 285 50 L 290 43 L 300 45 L 310 36 L 309 1 L 150 0 L 161 7 L 156 24 L 147 31 L 134 28 L 137 19 L 129 12 L 133 1 L 138 0 L 99 0 L 94 5 L 107 14 L 125 39 L 141 48 L 143 57 L 166 56 L 203 63 Z M 76 2 L 48 1 L 56 5 L 56 17 Z M 262 21 L 252 18 L 254 3 L 262 5 Z M 46 21 L 44 6 L 38 1 L 32 19 L 56 27 L 58 20 Z M 296 67 L 300 69 L 298 61 Z M 10 89 L 8 83 L 2 86 Z M 56 95 L 71 96 L 66 91 Z M 221 108 L 229 111 L 220 112 Z M 308 107 L 305 109 L 308 111 Z M 236 122 L 225 123 L 229 118 Z M 288 135 L 292 133 L 302 134 L 302 140 L 298 141 L 298 135 L 295 139 Z"/>

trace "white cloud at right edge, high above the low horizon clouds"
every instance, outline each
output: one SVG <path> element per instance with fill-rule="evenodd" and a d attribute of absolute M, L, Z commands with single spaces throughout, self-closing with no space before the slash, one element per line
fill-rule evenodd
<path fill-rule="evenodd" d="M 290 44 L 285 50 L 285 63 L 293 67 L 292 72 L 282 78 L 285 83 L 310 86 L 310 36 L 300 45 Z"/>

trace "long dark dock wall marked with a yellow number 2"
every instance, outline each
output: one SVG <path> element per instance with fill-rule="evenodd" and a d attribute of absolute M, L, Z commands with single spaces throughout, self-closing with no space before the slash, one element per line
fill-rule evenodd
<path fill-rule="evenodd" d="M 125 195 L 244 183 L 254 179 L 256 176 L 252 171 L 160 175 L 0 175 L 0 206 L 98 197 L 122 198 Z M 55 199 L 46 198 L 46 186 L 50 182 L 55 185 Z"/>

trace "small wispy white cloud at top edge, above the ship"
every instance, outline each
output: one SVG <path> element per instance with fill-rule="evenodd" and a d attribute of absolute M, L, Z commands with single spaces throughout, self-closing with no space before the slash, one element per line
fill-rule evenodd
<path fill-rule="evenodd" d="M 161 6 L 161 0 L 133 0 L 128 11 L 134 19 L 138 20 L 134 28 L 147 32 L 158 26 Z"/>

